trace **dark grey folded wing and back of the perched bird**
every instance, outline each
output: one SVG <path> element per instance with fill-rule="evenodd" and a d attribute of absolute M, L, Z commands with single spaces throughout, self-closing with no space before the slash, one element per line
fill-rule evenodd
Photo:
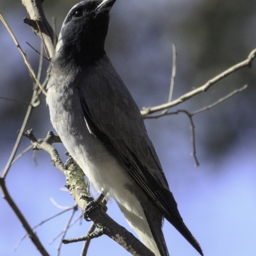
<path fill-rule="evenodd" d="M 202 252 L 179 214 L 154 146 L 148 138 L 140 109 L 111 62 L 100 67 L 98 72 L 88 70 L 87 76 L 80 79 L 83 82 L 77 87 L 86 123 L 157 205 L 164 218 L 170 221 L 198 252 Z M 104 70 L 104 67 L 108 67 L 108 70 Z M 93 81 L 93 85 L 86 86 L 88 81 Z"/>

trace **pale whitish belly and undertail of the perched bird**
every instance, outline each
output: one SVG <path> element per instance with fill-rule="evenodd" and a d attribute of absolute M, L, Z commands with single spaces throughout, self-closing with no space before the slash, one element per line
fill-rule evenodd
<path fill-rule="evenodd" d="M 49 91 L 47 97 L 50 97 Z M 60 109 L 56 111 L 57 107 L 60 108 L 60 104 L 56 106 L 55 103 L 58 99 L 51 100 L 51 102 L 53 104 L 49 106 L 49 109 L 52 125 L 69 154 L 90 180 L 93 189 L 104 193 L 106 198 L 114 198 L 125 219 L 143 243 L 159 255 L 141 204 L 127 189 L 127 187 L 132 188 L 138 185 L 104 144 L 90 133 L 81 109 L 73 109 L 76 115 L 70 115 L 70 111 L 67 111 L 65 106 L 61 111 Z"/>

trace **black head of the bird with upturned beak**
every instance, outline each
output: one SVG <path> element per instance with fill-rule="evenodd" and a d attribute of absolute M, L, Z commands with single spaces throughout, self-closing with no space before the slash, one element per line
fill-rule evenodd
<path fill-rule="evenodd" d="M 116 0 L 85 0 L 76 4 L 63 22 L 54 60 L 90 62 L 103 54 L 109 11 Z"/>

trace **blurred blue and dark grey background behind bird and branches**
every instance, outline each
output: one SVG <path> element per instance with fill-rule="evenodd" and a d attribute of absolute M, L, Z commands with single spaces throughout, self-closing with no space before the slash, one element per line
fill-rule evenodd
<path fill-rule="evenodd" d="M 45 15 L 57 19 L 57 31 L 77 1 L 44 1 Z M 22 22 L 28 17 L 21 1 L 1 0 L 0 12 L 28 54 L 34 70 L 40 38 Z M 111 10 L 106 51 L 140 109 L 166 102 L 172 72 L 172 44 L 177 45 L 177 76 L 173 99 L 189 92 L 223 70 L 247 58 L 256 45 L 256 4 L 253 0 L 118 0 Z M 0 24 L 0 96 L 30 101 L 32 83 L 28 69 L 3 24 Z M 49 65 L 44 61 L 43 76 Z M 211 104 L 236 88 L 243 92 L 194 117 L 196 151 L 200 166 L 195 167 L 189 120 L 173 115 L 145 120 L 148 133 L 163 164 L 166 178 L 178 202 L 186 225 L 207 256 L 256 255 L 256 63 L 244 68 L 175 109 L 194 111 Z M 52 131 L 45 97 L 33 110 L 26 129 L 36 138 Z M 3 170 L 17 138 L 28 106 L 0 99 L 0 170 Z M 22 138 L 18 150 L 29 146 Z M 57 146 L 61 156 L 65 148 Z M 35 152 L 34 152 L 35 153 Z M 65 177 L 51 164 L 45 152 L 30 150 L 13 164 L 6 186 L 33 227 L 58 213 L 51 198 L 60 205 L 74 204 L 65 186 Z M 63 156 L 63 161 L 65 157 Z M 108 213 L 131 231 L 115 202 Z M 50 255 L 57 255 L 60 238 L 71 212 L 36 229 Z M 80 214 L 77 211 L 76 216 Z M 86 234 L 90 223 L 74 225 L 67 237 Z M 25 230 L 4 199 L 0 200 L 0 255 L 39 255 L 28 237 L 14 252 Z M 164 223 L 170 255 L 198 255 L 182 236 Z M 83 243 L 61 247 L 61 255 L 79 255 Z M 102 236 L 92 241 L 88 255 L 129 255 Z"/>

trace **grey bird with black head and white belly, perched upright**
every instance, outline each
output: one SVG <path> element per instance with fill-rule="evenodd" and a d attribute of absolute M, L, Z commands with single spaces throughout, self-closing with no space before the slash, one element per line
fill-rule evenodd
<path fill-rule="evenodd" d="M 51 123 L 94 191 L 116 201 L 156 256 L 169 255 L 164 219 L 203 256 L 180 216 L 140 109 L 104 49 L 115 1 L 85 0 L 68 12 L 47 83 Z"/>

